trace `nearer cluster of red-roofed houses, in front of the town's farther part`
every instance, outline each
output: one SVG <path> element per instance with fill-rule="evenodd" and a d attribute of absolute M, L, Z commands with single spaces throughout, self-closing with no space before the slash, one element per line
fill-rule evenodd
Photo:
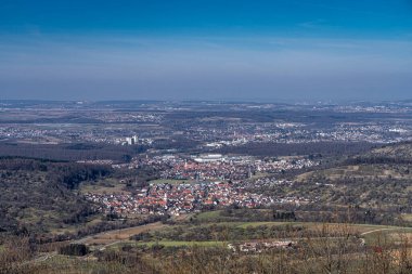
<path fill-rule="evenodd" d="M 255 208 L 275 203 L 272 197 L 245 192 L 224 182 L 152 183 L 147 188 L 131 194 L 86 194 L 100 210 L 117 214 L 173 214 L 199 211 L 206 207 L 236 205 Z"/>

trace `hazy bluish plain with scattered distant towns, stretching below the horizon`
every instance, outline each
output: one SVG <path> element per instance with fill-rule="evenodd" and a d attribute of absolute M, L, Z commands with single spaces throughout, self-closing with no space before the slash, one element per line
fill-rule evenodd
<path fill-rule="evenodd" d="M 195 142 L 198 148 L 217 149 L 268 142 L 394 143 L 412 139 L 409 103 L 372 106 L 209 103 L 198 107 L 160 102 L 138 104 L 133 109 L 80 103 L 52 109 L 42 104 L 22 107 L 1 103 L 0 141 L 155 147 L 158 142 L 184 139 Z M 210 113 L 216 116 L 203 117 Z M 250 117 L 245 118 L 246 113 Z M 229 114 L 234 116 L 228 117 Z"/>

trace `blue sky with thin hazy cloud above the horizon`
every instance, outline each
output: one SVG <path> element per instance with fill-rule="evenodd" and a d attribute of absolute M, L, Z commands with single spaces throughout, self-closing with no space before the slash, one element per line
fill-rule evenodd
<path fill-rule="evenodd" d="M 411 99 L 412 0 L 0 2 L 0 99 Z"/>

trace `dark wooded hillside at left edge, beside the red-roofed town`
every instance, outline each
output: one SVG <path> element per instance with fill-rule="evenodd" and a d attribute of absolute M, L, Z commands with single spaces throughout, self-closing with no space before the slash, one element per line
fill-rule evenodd
<path fill-rule="evenodd" d="M 48 232 L 94 213 L 75 188 L 111 172 L 104 166 L 4 157 L 0 159 L 0 230 Z"/>

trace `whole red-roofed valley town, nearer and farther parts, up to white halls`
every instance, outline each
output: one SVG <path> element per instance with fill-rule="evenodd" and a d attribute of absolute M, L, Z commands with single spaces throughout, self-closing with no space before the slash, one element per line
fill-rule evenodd
<path fill-rule="evenodd" d="M 133 159 L 115 168 L 152 167 L 170 183 L 151 183 L 133 194 L 87 194 L 100 210 L 117 214 L 184 214 L 208 207 L 239 206 L 255 208 L 274 204 L 310 203 L 305 197 L 269 197 L 254 193 L 271 184 L 289 185 L 273 177 L 250 179 L 257 172 L 275 173 L 318 165 L 308 158 L 261 160 L 250 156 L 228 157 L 220 154 L 183 157 L 162 155 Z M 181 181 L 180 181 L 181 180 Z"/>

